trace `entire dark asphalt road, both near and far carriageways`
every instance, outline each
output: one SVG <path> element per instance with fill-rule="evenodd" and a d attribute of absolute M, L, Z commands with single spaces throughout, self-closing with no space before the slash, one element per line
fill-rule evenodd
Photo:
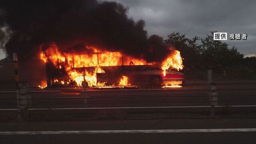
<path fill-rule="evenodd" d="M 187 85 L 174 89 L 33 89 L 30 91 L 30 115 L 39 120 L 81 111 L 82 115 L 148 114 L 140 120 L 87 120 L 58 122 L 2 122 L 1 144 L 255 144 L 255 118 L 173 118 L 160 119 L 161 113 L 208 111 L 210 102 L 206 85 Z M 217 87 L 218 107 L 233 111 L 256 111 L 255 85 Z M 0 111 L 16 114 L 15 92 L 0 92 Z M 49 114 L 47 111 L 54 111 Z M 53 109 L 52 109 L 53 108 Z M 55 109 L 54 109 L 55 108 Z M 81 108 L 81 109 L 79 109 Z M 7 110 L 9 109 L 9 110 Z M 45 111 L 46 110 L 46 111 Z M 72 111 L 70 111 L 72 110 Z M 73 111 L 74 110 L 74 111 Z M 117 111 L 116 111 L 117 110 Z M 154 113 L 158 113 L 154 115 Z M 8 113 L 6 113 L 8 114 Z M 79 119 L 76 115 L 75 119 Z M 130 118 L 131 115 L 128 117 Z M 187 116 L 190 117 L 190 116 Z M 111 118 L 110 118 L 111 119 Z M 112 118 L 112 119 L 115 119 Z M 38 120 L 38 119 L 37 119 Z"/>

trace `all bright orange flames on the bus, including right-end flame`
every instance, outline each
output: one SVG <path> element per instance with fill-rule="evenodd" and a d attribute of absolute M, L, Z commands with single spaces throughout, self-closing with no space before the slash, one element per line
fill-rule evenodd
<path fill-rule="evenodd" d="M 108 52 L 102 51 L 95 47 L 85 47 L 85 51 L 91 51 L 91 53 L 86 54 L 75 54 L 75 53 L 64 53 L 58 50 L 56 44 L 51 44 L 51 46 L 44 52 L 40 52 L 40 59 L 43 62 L 51 61 L 54 63 L 56 68 L 64 68 L 70 78 L 70 80 L 65 81 L 63 79 L 54 80 L 54 82 L 59 82 L 60 84 L 69 84 L 71 82 L 75 83 L 77 86 L 82 86 L 82 82 L 85 80 L 88 86 L 105 86 L 106 82 L 97 82 L 97 73 L 104 73 L 104 70 L 100 66 L 121 66 L 121 65 L 146 65 L 148 64 L 146 60 L 140 58 L 133 58 L 131 56 L 123 56 L 121 52 Z M 92 53 L 93 52 L 93 53 Z M 155 64 L 155 63 L 151 63 Z M 82 67 L 92 67 L 94 70 L 80 72 L 74 68 Z M 182 58 L 178 50 L 174 50 L 163 62 L 162 70 L 165 75 L 166 69 L 176 68 L 180 70 L 183 68 Z M 128 77 L 123 76 L 120 80 L 119 85 L 129 85 Z M 44 86 L 39 86 L 44 88 Z"/>

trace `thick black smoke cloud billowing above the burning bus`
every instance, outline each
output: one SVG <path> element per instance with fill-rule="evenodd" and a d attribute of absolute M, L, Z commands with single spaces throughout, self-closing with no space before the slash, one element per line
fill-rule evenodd
<path fill-rule="evenodd" d="M 161 37 L 147 37 L 144 20 L 134 22 L 117 2 L 96 0 L 1 0 L 0 23 L 12 30 L 7 54 L 35 57 L 39 46 L 55 42 L 61 51 L 81 46 L 160 61 L 168 54 Z"/>

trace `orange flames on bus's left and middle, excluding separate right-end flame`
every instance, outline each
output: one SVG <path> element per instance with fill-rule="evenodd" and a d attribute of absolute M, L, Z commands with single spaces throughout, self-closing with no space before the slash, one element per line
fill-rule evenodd
<path fill-rule="evenodd" d="M 58 51 L 56 44 L 52 44 L 50 48 L 44 52 L 40 52 L 40 59 L 43 62 L 50 60 L 54 63 L 56 68 L 61 68 L 61 63 L 65 64 L 66 72 L 76 85 L 82 86 L 82 82 L 85 80 L 88 86 L 104 86 L 105 82 L 97 82 L 96 73 L 104 73 L 104 70 L 100 66 L 121 66 L 124 65 L 145 65 L 147 64 L 145 60 L 132 58 L 130 56 L 125 57 L 125 63 L 122 63 L 122 54 L 120 52 L 100 52 L 99 49 L 95 47 L 86 46 L 85 50 L 92 50 L 94 54 L 68 54 L 61 53 Z M 67 64 L 65 63 L 67 60 Z M 79 67 L 95 67 L 92 72 L 79 72 L 72 68 Z M 127 77 L 126 77 L 127 78 Z M 54 82 L 58 82 L 57 79 Z M 60 81 L 64 84 L 64 81 Z M 126 85 L 126 84 L 122 84 Z M 41 87 L 41 86 L 40 86 Z"/>

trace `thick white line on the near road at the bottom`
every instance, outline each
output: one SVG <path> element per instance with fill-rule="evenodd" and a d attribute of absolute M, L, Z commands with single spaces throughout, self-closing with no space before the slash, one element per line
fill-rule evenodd
<path fill-rule="evenodd" d="M 183 133 L 183 132 L 256 132 L 256 128 L 176 129 L 176 130 L 70 130 L 0 132 L 0 135 L 20 134 L 118 134 L 118 133 Z"/>

